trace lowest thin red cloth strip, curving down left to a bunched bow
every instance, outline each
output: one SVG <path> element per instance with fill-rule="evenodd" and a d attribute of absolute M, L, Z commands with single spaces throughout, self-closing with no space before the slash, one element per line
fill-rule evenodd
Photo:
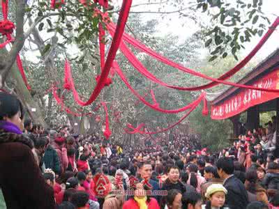
<path fill-rule="evenodd" d="M 202 102 L 203 98 L 205 97 L 205 93 L 202 93 L 202 95 L 195 101 L 195 105 L 185 114 L 185 116 L 183 116 L 182 118 L 179 119 L 178 122 L 170 125 L 169 127 L 164 128 L 163 130 L 157 131 L 157 132 L 144 132 L 142 130 L 139 129 L 139 127 L 133 127 L 132 125 L 129 125 L 129 128 L 132 129 L 132 131 L 125 129 L 125 131 L 128 134 L 135 134 L 135 133 L 139 133 L 139 134 L 159 134 L 159 133 L 163 133 L 166 132 L 167 130 L 172 129 L 173 127 L 175 127 L 176 125 L 179 125 L 179 123 L 181 123 L 185 118 L 187 118 L 190 113 L 197 108 L 197 106 Z"/>

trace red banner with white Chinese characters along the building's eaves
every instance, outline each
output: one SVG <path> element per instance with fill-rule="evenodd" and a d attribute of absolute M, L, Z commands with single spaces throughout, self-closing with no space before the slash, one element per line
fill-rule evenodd
<path fill-rule="evenodd" d="M 254 82 L 252 86 L 279 89 L 279 69 Z M 211 118 L 221 120 L 240 114 L 246 109 L 278 98 L 278 93 L 241 89 L 239 93 L 217 105 L 211 106 Z"/>

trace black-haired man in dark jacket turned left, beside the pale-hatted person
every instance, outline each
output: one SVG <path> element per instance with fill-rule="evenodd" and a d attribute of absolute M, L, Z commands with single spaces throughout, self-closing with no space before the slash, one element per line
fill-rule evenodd
<path fill-rule="evenodd" d="M 243 183 L 233 174 L 234 162 L 227 157 L 221 157 L 216 165 L 220 178 L 224 180 L 223 185 L 227 189 L 225 205 L 234 209 L 246 208 L 248 193 Z"/>

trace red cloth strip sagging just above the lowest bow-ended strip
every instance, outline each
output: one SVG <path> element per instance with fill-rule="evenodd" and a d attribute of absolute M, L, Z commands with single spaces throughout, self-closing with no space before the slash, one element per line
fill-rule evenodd
<path fill-rule="evenodd" d="M 151 109 L 154 109 L 156 111 L 160 111 L 166 114 L 177 114 L 181 111 L 186 111 L 187 109 L 190 109 L 191 107 L 193 107 L 193 105 L 195 105 L 195 102 L 192 102 L 188 105 L 186 105 L 185 107 L 182 107 L 180 109 L 172 109 L 172 110 L 168 110 L 168 109 L 161 109 L 160 107 L 154 105 L 154 104 L 150 104 L 149 102 L 147 102 L 146 100 L 144 100 L 144 98 L 142 98 L 142 96 L 137 93 L 137 91 L 135 91 L 132 86 L 130 86 L 130 84 L 128 83 L 125 75 L 123 75 L 123 72 L 121 71 L 121 69 L 119 68 L 118 63 L 116 63 L 116 61 L 114 61 L 114 65 L 113 65 L 114 69 L 116 70 L 116 73 L 119 75 L 119 77 L 122 79 L 122 81 L 124 82 L 124 84 L 126 84 L 126 86 L 130 89 L 130 91 L 132 91 L 132 93 L 139 99 L 141 100 L 144 104 L 146 104 L 148 107 L 150 107 Z"/>

